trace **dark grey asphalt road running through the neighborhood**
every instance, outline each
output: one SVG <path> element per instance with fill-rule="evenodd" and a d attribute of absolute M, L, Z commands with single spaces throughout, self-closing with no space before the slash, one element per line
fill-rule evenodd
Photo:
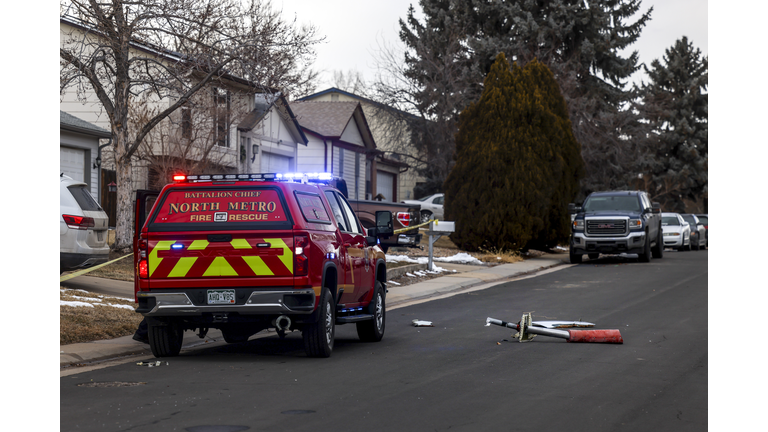
<path fill-rule="evenodd" d="M 337 327 L 329 359 L 305 357 L 296 332 L 65 376 L 61 430 L 706 430 L 707 255 L 604 258 L 398 308 L 379 343 Z M 619 329 L 624 344 L 485 326 L 523 312 Z"/>

